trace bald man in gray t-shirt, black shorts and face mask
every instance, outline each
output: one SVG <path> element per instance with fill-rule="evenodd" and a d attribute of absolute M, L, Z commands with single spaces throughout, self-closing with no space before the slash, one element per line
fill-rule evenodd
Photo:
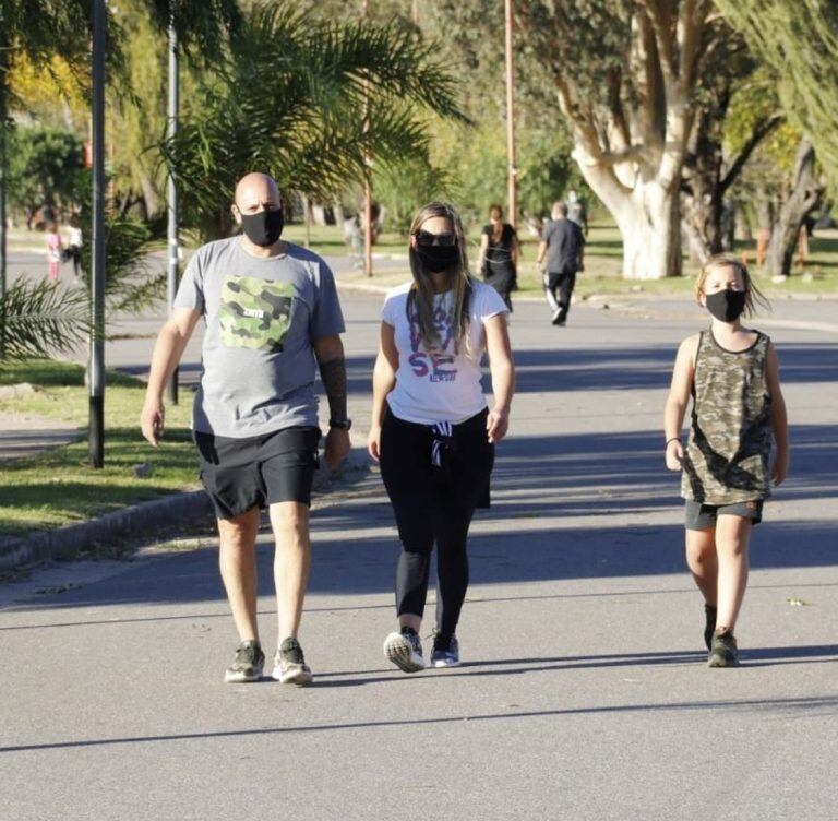
<path fill-rule="evenodd" d="M 219 566 L 239 633 L 228 682 L 258 681 L 265 655 L 256 624 L 256 534 L 267 508 L 276 543 L 278 649 L 272 676 L 308 685 L 297 638 L 309 580 L 309 504 L 318 444 L 315 362 L 328 398 L 325 460 L 349 451 L 344 320 L 335 281 L 315 253 L 284 241 L 276 182 L 248 174 L 231 207 L 241 235 L 202 246 L 190 260 L 152 355 L 141 417 L 154 445 L 163 436 L 163 391 L 203 317 L 203 373 L 193 438 L 201 479 L 218 521 Z"/>

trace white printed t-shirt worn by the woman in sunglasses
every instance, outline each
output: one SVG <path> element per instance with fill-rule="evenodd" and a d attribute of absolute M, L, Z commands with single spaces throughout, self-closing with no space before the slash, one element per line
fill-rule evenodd
<path fill-rule="evenodd" d="M 508 309 L 493 287 L 472 281 L 469 342 L 457 345 L 452 338 L 453 293 L 436 294 L 434 324 L 440 343 L 438 349 L 428 352 L 419 336 L 416 316 L 408 321 L 409 291 L 410 283 L 391 290 L 381 311 L 382 320 L 395 329 L 398 350 L 396 386 L 387 396 L 387 404 L 405 421 L 457 425 L 486 407 L 480 384 L 480 360 L 486 349 L 483 323 Z"/>

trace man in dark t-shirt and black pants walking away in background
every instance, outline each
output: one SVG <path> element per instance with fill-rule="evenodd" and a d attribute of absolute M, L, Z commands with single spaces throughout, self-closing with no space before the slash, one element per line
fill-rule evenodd
<path fill-rule="evenodd" d="M 582 228 L 567 218 L 567 206 L 558 200 L 538 243 L 536 265 L 544 278 L 544 296 L 554 325 L 563 325 L 571 310 L 576 274 L 583 270 L 585 238 Z"/>

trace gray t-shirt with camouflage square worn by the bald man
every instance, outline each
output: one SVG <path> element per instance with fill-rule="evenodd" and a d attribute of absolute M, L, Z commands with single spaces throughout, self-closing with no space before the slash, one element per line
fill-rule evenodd
<path fill-rule="evenodd" d="M 190 260 L 175 307 L 206 321 L 195 430 L 241 439 L 318 424 L 312 344 L 344 331 L 334 276 L 318 254 L 286 243 L 260 259 L 241 237 L 210 242 Z"/>

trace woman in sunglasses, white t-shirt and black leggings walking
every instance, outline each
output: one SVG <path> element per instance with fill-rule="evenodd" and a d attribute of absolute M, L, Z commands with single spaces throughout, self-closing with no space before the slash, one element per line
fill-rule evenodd
<path fill-rule="evenodd" d="M 385 656 L 405 673 L 426 666 L 419 638 L 431 551 L 438 549 L 436 632 L 431 664 L 459 664 L 457 623 L 468 587 L 466 539 L 475 509 L 489 507 L 494 445 L 506 435 L 515 370 L 507 308 L 468 273 L 456 211 L 426 205 L 410 226 L 412 282 L 382 309 L 367 440 L 380 462 L 402 549 L 396 569 L 398 631 Z M 480 360 L 488 350 L 494 405 Z"/>

